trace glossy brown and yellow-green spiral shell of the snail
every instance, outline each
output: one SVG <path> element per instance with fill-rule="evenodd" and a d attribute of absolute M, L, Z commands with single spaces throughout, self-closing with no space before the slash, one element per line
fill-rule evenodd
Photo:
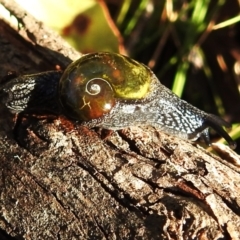
<path fill-rule="evenodd" d="M 109 113 L 118 99 L 136 100 L 149 92 L 151 72 L 120 54 L 87 54 L 65 70 L 59 99 L 69 116 L 89 121 Z"/>

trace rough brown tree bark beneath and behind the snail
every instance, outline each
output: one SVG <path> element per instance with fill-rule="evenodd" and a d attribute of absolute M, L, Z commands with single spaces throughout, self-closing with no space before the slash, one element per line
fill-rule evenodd
<path fill-rule="evenodd" d="M 0 20 L 1 79 L 79 57 L 0 3 L 23 25 Z M 102 135 L 65 116 L 12 116 L 0 102 L 1 239 L 240 239 L 237 166 L 153 127 Z"/>

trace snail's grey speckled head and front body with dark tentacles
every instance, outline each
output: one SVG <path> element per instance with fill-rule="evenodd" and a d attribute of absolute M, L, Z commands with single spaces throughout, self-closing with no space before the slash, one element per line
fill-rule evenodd
<path fill-rule="evenodd" d="M 152 74 L 151 91 L 146 99 L 118 101 L 112 111 L 103 118 L 82 124 L 112 130 L 136 125 L 152 125 L 183 139 L 196 140 L 202 136 L 208 144 L 210 144 L 208 128 L 212 127 L 228 141 L 231 147 L 235 147 L 234 141 L 222 128 L 222 126 L 230 128 L 229 123 L 181 100 L 162 85 L 154 74 Z"/>

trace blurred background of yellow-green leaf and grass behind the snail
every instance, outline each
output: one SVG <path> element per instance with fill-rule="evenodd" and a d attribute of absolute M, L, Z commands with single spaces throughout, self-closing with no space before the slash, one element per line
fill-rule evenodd
<path fill-rule="evenodd" d="M 120 52 L 148 65 L 178 96 L 232 122 L 240 153 L 237 0 L 17 2 L 82 53 Z"/>

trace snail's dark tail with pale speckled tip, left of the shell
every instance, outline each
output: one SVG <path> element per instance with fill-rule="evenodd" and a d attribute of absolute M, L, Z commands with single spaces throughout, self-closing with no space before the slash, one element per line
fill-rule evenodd
<path fill-rule="evenodd" d="M 28 110 L 59 112 L 57 87 L 60 71 L 24 75 L 0 85 L 0 102 L 13 113 Z"/>

